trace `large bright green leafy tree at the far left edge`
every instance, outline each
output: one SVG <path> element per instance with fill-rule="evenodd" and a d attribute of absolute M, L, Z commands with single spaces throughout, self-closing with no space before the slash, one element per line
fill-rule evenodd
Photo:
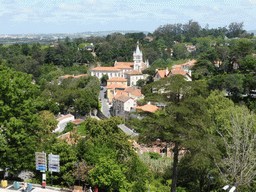
<path fill-rule="evenodd" d="M 42 124 L 36 113 L 38 87 L 31 76 L 0 66 L 1 167 L 10 172 L 34 168 L 34 154 L 41 143 Z"/>

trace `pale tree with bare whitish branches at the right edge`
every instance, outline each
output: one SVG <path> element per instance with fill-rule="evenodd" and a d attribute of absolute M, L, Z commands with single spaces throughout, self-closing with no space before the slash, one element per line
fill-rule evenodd
<path fill-rule="evenodd" d="M 225 155 L 217 167 L 232 186 L 251 184 L 256 175 L 255 114 L 244 106 L 231 108 L 222 130 L 216 131 L 225 144 Z"/>

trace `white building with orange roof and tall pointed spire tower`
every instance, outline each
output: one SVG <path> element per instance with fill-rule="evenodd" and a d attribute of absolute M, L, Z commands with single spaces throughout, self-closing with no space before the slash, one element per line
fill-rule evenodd
<path fill-rule="evenodd" d="M 144 69 L 149 67 L 149 62 L 143 62 L 142 51 L 137 43 L 136 50 L 133 52 L 133 62 L 117 62 L 114 67 L 95 67 L 91 70 L 91 75 L 99 79 L 103 75 L 108 75 L 109 79 L 113 77 L 123 77 L 128 80 L 128 85 L 136 85 L 139 79 L 146 79 L 147 75 L 142 74 Z"/>

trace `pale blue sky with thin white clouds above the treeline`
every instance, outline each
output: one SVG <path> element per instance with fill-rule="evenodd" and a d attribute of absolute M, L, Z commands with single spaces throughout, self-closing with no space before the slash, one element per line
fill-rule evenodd
<path fill-rule="evenodd" d="M 0 0 L 0 34 L 153 32 L 189 20 L 256 30 L 256 0 Z"/>

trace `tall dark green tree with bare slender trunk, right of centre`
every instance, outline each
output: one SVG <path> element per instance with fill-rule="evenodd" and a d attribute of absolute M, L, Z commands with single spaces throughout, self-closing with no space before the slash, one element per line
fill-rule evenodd
<path fill-rule="evenodd" d="M 171 191 L 176 191 L 178 179 L 179 151 L 191 148 L 191 143 L 204 136 L 209 116 L 204 106 L 207 96 L 204 82 L 187 82 L 182 75 L 165 78 L 153 83 L 155 94 L 151 101 L 165 102 L 165 111 L 159 111 L 143 118 L 140 140 L 142 142 L 162 141 L 173 143 L 173 169 Z M 138 126 L 138 125 L 137 125 Z"/>

